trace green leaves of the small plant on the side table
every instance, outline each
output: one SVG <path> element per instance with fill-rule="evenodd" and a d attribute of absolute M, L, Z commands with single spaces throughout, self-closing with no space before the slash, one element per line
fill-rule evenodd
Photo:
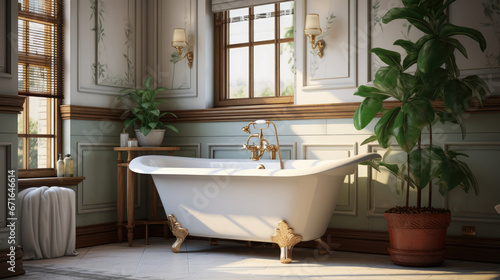
<path fill-rule="evenodd" d="M 166 90 L 166 88 L 151 87 L 151 80 L 153 78 L 149 77 L 144 82 L 144 89 L 124 89 L 121 92 L 125 94 L 118 97 L 118 99 L 127 98 L 135 103 L 135 107 L 123 112 L 123 115 L 132 113 L 134 117 L 125 120 L 125 128 L 129 127 L 133 123 L 139 124 L 139 130 L 144 135 L 148 135 L 152 129 L 166 129 L 169 128 L 175 132 L 179 132 L 177 128 L 170 124 L 164 124 L 161 118 L 165 115 L 171 115 L 177 117 L 171 112 L 160 112 L 158 106 L 163 103 L 164 100 L 158 99 L 158 93 Z"/>

